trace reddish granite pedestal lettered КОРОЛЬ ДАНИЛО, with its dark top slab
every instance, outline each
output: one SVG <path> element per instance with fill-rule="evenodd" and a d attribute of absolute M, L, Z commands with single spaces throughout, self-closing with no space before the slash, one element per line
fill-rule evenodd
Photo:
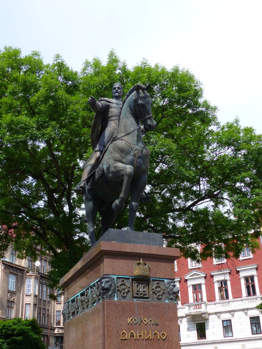
<path fill-rule="evenodd" d="M 180 348 L 172 283 L 179 255 L 162 235 L 109 229 L 61 279 L 65 349 Z M 134 276 L 141 258 L 150 276 Z M 147 269 L 143 262 L 138 269 Z"/>

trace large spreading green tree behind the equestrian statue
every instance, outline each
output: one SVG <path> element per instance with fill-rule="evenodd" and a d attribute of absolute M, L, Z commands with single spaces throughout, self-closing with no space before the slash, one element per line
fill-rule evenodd
<path fill-rule="evenodd" d="M 144 136 L 151 151 L 147 192 L 135 230 L 162 232 L 185 257 L 238 257 L 254 252 L 260 234 L 261 135 L 235 119 L 220 125 L 217 108 L 204 99 L 200 81 L 187 69 L 132 69 L 110 51 L 75 72 L 59 55 L 44 64 L 38 52 L 0 52 L 1 254 L 10 242 L 21 256 L 36 258 L 33 246 L 54 255 L 53 280 L 90 248 L 81 197 L 73 193 L 91 153 L 93 112 L 88 97 L 110 97 L 112 84 L 125 92 L 150 82 L 154 132 Z M 221 92 L 223 93 L 223 92 Z M 128 211 L 116 228 L 127 224 Z M 99 231 L 99 222 L 97 231 Z M 43 252 L 44 253 L 44 252 Z M 65 263 L 65 260 L 67 261 Z"/>

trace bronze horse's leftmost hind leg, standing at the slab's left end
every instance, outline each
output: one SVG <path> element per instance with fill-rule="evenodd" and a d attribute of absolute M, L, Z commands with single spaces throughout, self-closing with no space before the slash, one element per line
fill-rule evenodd
<path fill-rule="evenodd" d="M 87 217 L 87 233 L 93 246 L 96 242 L 95 219 L 98 212 L 98 202 L 93 198 L 90 192 L 84 195 L 84 205 L 85 215 Z"/>

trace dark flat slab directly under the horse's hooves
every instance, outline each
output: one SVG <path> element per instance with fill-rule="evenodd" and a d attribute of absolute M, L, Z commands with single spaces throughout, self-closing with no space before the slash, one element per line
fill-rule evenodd
<path fill-rule="evenodd" d="M 147 231 L 129 231 L 110 228 L 97 240 L 90 250 L 101 241 L 163 247 L 163 235 L 160 233 L 149 233 Z"/>

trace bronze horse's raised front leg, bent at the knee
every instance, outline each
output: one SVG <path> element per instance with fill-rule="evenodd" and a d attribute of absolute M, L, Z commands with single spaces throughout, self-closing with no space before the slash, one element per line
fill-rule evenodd
<path fill-rule="evenodd" d="M 115 212 L 121 212 L 125 207 L 125 201 L 127 198 L 128 188 L 130 181 L 134 173 L 134 168 L 131 165 L 125 165 L 121 162 L 115 162 L 110 166 L 110 172 L 108 178 L 110 180 L 120 181 L 123 180 L 122 191 L 119 195 L 119 199 L 113 202 L 113 210 Z"/>

